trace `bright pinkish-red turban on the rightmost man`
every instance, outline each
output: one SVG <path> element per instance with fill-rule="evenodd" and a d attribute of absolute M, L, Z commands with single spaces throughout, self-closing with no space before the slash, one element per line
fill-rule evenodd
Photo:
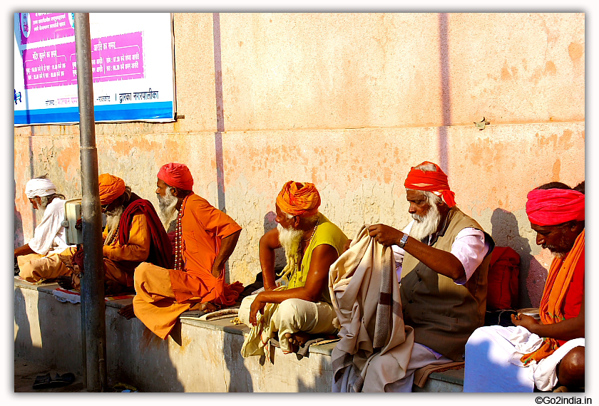
<path fill-rule="evenodd" d="M 585 195 L 576 190 L 533 189 L 527 197 L 526 214 L 532 224 L 555 226 L 585 219 Z"/>

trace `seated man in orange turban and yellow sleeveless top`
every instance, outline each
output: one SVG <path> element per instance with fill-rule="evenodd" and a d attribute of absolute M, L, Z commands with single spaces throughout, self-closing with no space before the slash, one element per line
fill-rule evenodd
<path fill-rule="evenodd" d="M 289 181 L 277 196 L 276 229 L 260 239 L 264 291 L 241 302 L 239 318 L 251 328 L 241 348 L 244 358 L 265 355 L 278 333 L 283 353 L 303 347 L 311 335 L 331 335 L 335 317 L 329 296 L 329 268 L 342 254 L 347 236 L 318 212 L 320 194 L 312 183 Z M 283 247 L 283 283 L 275 281 L 275 249 Z"/>

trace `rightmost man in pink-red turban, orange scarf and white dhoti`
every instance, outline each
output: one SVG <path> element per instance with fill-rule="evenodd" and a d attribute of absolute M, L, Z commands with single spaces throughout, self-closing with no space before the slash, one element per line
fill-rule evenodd
<path fill-rule="evenodd" d="M 528 193 L 526 214 L 536 244 L 554 256 L 541 321 L 519 313 L 511 316 L 514 327 L 478 328 L 466 344 L 464 392 L 585 385 L 585 195 L 561 182 L 543 184 Z"/>

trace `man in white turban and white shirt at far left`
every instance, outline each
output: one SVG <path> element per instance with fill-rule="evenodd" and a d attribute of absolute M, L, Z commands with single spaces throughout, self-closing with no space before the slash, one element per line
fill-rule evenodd
<path fill-rule="evenodd" d="M 19 264 L 19 276 L 28 282 L 70 276 L 66 264 L 76 252 L 76 246 L 66 244 L 66 232 L 61 225 L 64 219 L 64 195 L 46 176 L 29 180 L 25 194 L 34 209 L 42 209 L 43 217 L 35 229 L 34 238 L 24 246 L 14 249 Z"/>

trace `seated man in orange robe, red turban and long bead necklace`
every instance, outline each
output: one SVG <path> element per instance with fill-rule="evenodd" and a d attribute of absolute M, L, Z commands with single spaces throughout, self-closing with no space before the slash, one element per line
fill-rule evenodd
<path fill-rule="evenodd" d="M 243 286 L 225 283 L 225 262 L 235 250 L 241 227 L 193 193 L 193 177 L 183 164 L 163 165 L 156 185 L 161 211 L 170 207 L 179 212 L 175 268 L 140 264 L 135 269 L 133 306 L 119 313 L 126 318 L 137 316 L 155 335 L 166 339 L 184 311 L 214 311 L 235 304 Z M 163 218 L 168 217 L 163 213 Z"/>

